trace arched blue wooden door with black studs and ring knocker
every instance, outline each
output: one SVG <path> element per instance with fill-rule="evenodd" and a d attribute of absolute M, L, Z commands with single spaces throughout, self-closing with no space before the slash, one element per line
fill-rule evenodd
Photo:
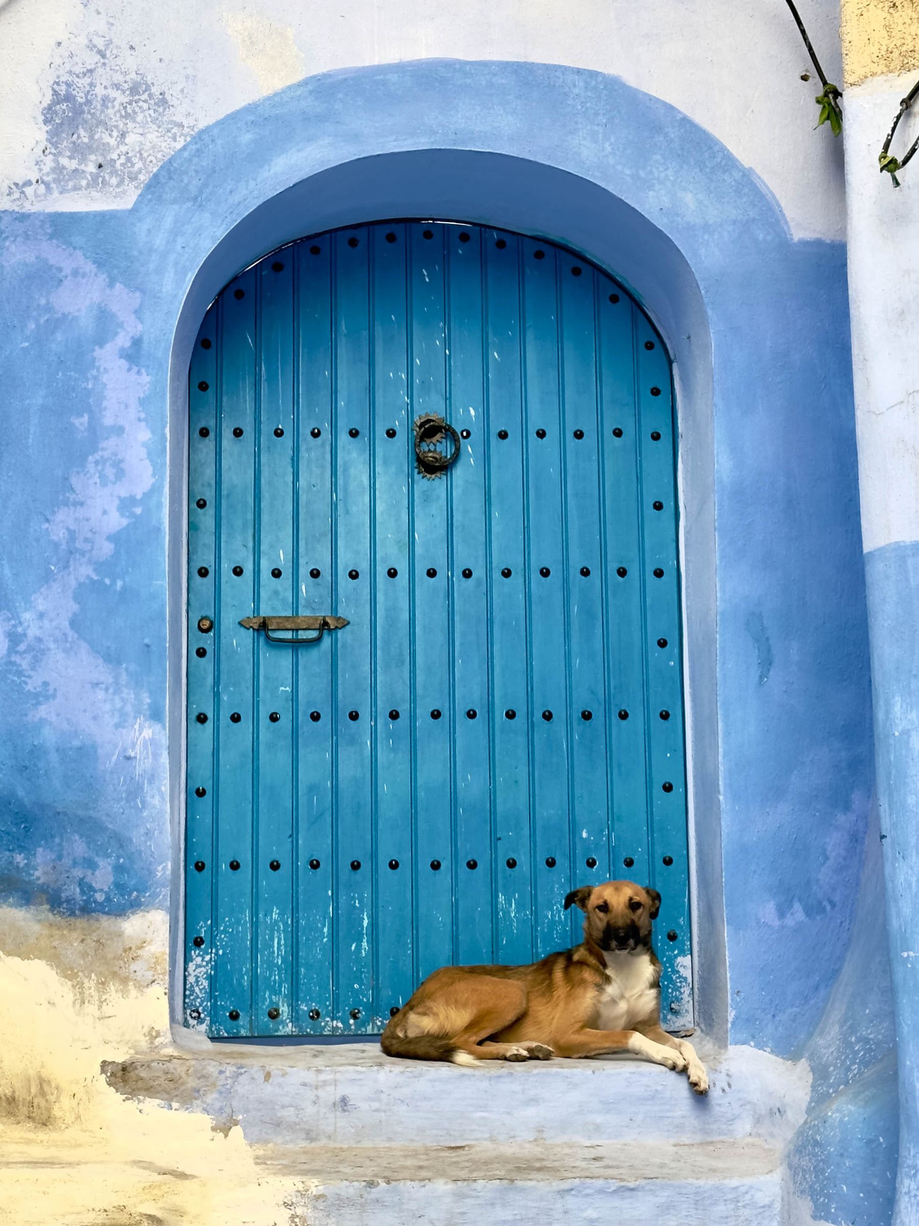
<path fill-rule="evenodd" d="M 580 939 L 562 900 L 610 877 L 663 895 L 690 1024 L 676 434 L 641 309 L 518 234 L 336 230 L 223 291 L 189 395 L 187 1024 L 377 1032 L 440 965 Z M 456 432 L 435 474 L 425 416 Z M 322 614 L 347 625 L 299 646 L 240 624 Z"/>

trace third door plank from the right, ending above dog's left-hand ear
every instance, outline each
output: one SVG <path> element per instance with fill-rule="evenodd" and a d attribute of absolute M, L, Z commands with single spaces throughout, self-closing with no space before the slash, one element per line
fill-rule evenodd
<path fill-rule="evenodd" d="M 602 564 L 593 270 L 564 251 L 559 253 L 558 270 L 571 653 L 572 881 L 592 885 L 609 878 L 607 761 L 609 721 L 618 718 L 605 694 L 602 585 L 591 582 Z M 591 571 L 587 579 L 582 568 Z M 580 927 L 577 917 L 575 924 Z"/>

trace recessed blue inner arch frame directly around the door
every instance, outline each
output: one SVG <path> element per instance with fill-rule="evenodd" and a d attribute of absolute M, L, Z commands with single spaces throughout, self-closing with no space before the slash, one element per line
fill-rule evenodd
<path fill-rule="evenodd" d="M 500 163 L 500 166 L 499 166 Z M 564 181 L 560 183 L 559 179 Z M 418 201 L 386 207 L 393 184 Z M 455 204 L 431 199 L 450 186 Z M 511 200 L 509 201 L 509 195 Z M 489 205 L 494 199 L 496 202 Z M 360 205 L 355 206 L 354 200 Z M 484 207 L 483 207 L 483 201 Z M 543 201 L 540 218 L 527 217 Z M 429 207 L 423 207 L 429 205 Z M 436 207 L 435 207 L 436 206 Z M 520 213 L 524 216 L 521 217 Z M 173 875 L 170 1021 L 176 1042 L 210 1046 L 183 1022 L 185 829 L 185 629 L 187 558 L 187 368 L 211 300 L 243 268 L 271 250 L 346 226 L 414 219 L 473 222 L 511 229 L 567 248 L 608 272 L 635 298 L 660 333 L 674 379 L 679 430 L 680 601 L 685 702 L 686 808 L 696 1024 L 727 1041 L 727 959 L 718 805 L 716 687 L 714 474 L 711 347 L 695 278 L 656 227 L 597 184 L 540 163 L 468 151 L 419 151 L 346 162 L 271 197 L 230 229 L 201 265 L 176 322 L 170 370 L 169 430 L 169 701 Z M 314 221 L 315 218 L 315 221 Z M 575 219 L 577 218 L 577 223 Z M 297 227 L 295 229 L 292 227 Z M 272 239 L 281 239 L 273 242 Z M 270 245 L 266 245 L 270 243 Z M 649 270 L 636 287 L 641 270 Z M 631 275 L 630 275 L 631 273 Z M 646 289 L 646 293 L 641 291 Z M 703 341 L 700 345 L 698 337 Z M 696 338 L 689 349 L 684 341 Z M 685 357 L 681 357 L 681 352 Z M 701 352 L 700 352 L 701 351 Z M 263 1040 L 251 1040 L 263 1042 Z M 322 1045 L 298 1036 L 289 1042 Z"/>

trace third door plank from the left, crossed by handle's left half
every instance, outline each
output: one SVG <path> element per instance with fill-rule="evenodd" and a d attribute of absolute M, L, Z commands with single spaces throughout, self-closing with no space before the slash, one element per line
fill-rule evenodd
<path fill-rule="evenodd" d="M 290 614 L 293 550 L 293 265 L 290 254 L 263 260 L 259 284 L 259 457 L 256 609 Z M 256 981 L 260 1034 L 292 1030 L 293 650 L 257 644 Z"/>

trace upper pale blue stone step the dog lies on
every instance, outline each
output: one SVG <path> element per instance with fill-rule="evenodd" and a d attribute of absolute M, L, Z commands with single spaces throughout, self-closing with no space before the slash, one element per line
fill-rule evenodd
<path fill-rule="evenodd" d="M 806 1074 L 752 1048 L 711 1067 L 700 1098 L 685 1075 L 635 1059 L 396 1060 L 379 1047 L 208 1046 L 105 1063 L 119 1092 L 239 1125 L 252 1145 L 494 1143 L 705 1144 L 757 1138 L 783 1149 L 804 1118 Z"/>

